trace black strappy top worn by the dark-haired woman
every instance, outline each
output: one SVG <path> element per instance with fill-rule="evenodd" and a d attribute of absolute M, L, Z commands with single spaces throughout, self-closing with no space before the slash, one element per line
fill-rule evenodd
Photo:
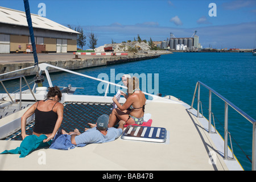
<path fill-rule="evenodd" d="M 53 105 L 53 107 L 56 104 L 57 102 Z M 57 119 L 58 115 L 55 113 L 55 111 L 40 111 L 38 110 L 37 105 L 35 109 L 35 126 L 33 131 L 38 134 L 51 134 L 54 130 Z"/>

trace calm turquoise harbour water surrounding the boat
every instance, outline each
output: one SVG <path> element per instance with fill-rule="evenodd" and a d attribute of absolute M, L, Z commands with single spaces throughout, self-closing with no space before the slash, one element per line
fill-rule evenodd
<path fill-rule="evenodd" d="M 172 95 L 180 98 L 189 105 L 192 102 L 196 82 L 204 82 L 256 119 L 256 56 L 253 56 L 252 53 L 173 53 L 162 55 L 158 59 L 80 69 L 77 72 L 93 77 L 98 77 L 100 73 L 106 73 L 109 76 L 109 81 L 111 81 L 111 69 L 112 71 L 114 69 L 115 76 L 118 73 L 138 73 L 139 75 L 152 73 L 153 78 L 157 80 L 154 73 L 158 74 L 158 92 L 162 93 L 163 96 Z M 32 77 L 28 81 L 32 81 Z M 76 94 L 98 95 L 99 82 L 88 78 L 62 72 L 53 73 L 52 82 L 53 85 L 57 86 L 72 84 L 72 86 L 85 88 L 77 89 Z M 115 80 L 115 82 L 118 83 L 119 80 Z M 10 88 L 15 85 L 11 82 L 8 84 L 10 84 Z M 44 86 L 47 86 L 46 81 Z M 208 94 L 208 90 L 201 86 L 203 114 L 206 118 L 208 118 Z M 193 107 L 197 108 L 196 102 Z M 223 137 L 224 102 L 214 95 L 212 96 L 212 111 L 216 116 L 217 130 Z M 245 170 L 251 170 L 251 163 L 245 154 L 249 155 L 251 159 L 252 124 L 231 107 L 229 107 L 229 132 L 234 139 L 232 139 L 234 154 Z M 235 141 L 243 151 L 240 150 Z"/>

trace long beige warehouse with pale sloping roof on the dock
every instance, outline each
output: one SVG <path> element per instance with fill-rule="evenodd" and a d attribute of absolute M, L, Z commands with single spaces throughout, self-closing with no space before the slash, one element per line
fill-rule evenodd
<path fill-rule="evenodd" d="M 31 14 L 36 52 L 77 51 L 77 31 Z M 0 53 L 32 52 L 30 32 L 24 11 L 0 7 Z"/>

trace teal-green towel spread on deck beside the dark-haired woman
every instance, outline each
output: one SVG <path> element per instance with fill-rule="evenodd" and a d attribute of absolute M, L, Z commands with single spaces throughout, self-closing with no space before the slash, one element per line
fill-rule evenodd
<path fill-rule="evenodd" d="M 1 154 L 20 154 L 19 158 L 24 158 L 36 148 L 51 146 L 52 140 L 49 140 L 49 142 L 43 142 L 43 140 L 46 138 L 46 135 L 40 135 L 40 137 L 36 135 L 29 135 L 24 138 L 19 147 L 13 150 L 5 150 Z"/>

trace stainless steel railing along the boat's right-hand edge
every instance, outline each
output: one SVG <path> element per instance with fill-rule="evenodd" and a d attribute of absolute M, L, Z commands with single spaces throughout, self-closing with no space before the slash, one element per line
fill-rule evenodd
<path fill-rule="evenodd" d="M 193 104 L 196 97 L 196 91 L 197 91 L 197 117 L 200 117 L 200 85 L 204 86 L 209 90 L 209 133 L 211 131 L 210 127 L 212 125 L 212 93 L 214 93 L 217 97 L 221 98 L 222 101 L 225 102 L 225 126 L 224 126 L 224 159 L 228 160 L 228 106 L 232 107 L 234 110 L 236 110 L 239 114 L 241 114 L 244 118 L 246 118 L 248 121 L 250 121 L 253 124 L 253 143 L 252 143 L 252 160 L 251 160 L 251 169 L 253 171 L 256 171 L 256 121 L 255 119 L 251 118 L 249 115 L 247 115 L 245 112 L 243 112 L 241 109 L 239 109 L 236 105 L 234 105 L 232 102 L 227 100 L 225 97 L 221 96 L 218 92 L 210 88 L 209 86 L 205 85 L 201 81 L 197 81 L 195 92 L 193 94 L 193 99 L 191 103 L 191 109 L 193 108 Z M 231 142 L 231 140 L 230 140 Z M 231 144 L 232 145 L 232 144 Z M 232 149 L 233 154 L 233 149 Z"/>

